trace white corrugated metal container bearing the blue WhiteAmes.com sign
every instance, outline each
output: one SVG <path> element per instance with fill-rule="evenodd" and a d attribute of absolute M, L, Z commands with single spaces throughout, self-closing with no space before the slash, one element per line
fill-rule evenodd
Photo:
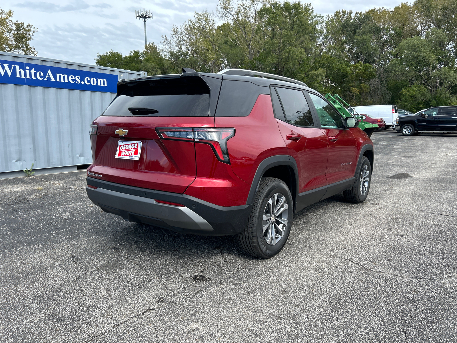
<path fill-rule="evenodd" d="M 0 52 L 0 179 L 92 163 L 89 125 L 146 72 Z"/>

